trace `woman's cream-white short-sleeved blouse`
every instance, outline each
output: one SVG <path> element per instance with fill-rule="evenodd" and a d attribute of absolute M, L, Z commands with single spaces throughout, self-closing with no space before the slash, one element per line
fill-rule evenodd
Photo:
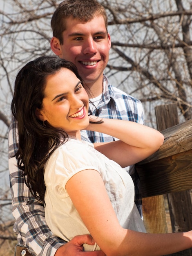
<path fill-rule="evenodd" d="M 65 241 L 76 235 L 90 234 L 65 189 L 73 175 L 87 169 L 100 173 L 120 225 L 146 232 L 134 204 L 134 183 L 130 175 L 94 149 L 93 144 L 72 137 L 55 150 L 45 166 L 45 219 L 51 231 Z M 84 245 L 85 251 L 94 249 L 94 246 Z"/>

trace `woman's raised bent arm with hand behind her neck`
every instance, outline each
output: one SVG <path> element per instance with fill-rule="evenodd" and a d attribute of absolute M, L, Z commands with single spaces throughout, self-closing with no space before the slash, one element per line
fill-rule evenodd
<path fill-rule="evenodd" d="M 96 117 L 90 117 L 96 120 Z M 120 141 L 96 143 L 95 148 L 114 160 L 122 167 L 126 167 L 152 155 L 163 144 L 161 132 L 132 121 L 103 119 L 102 124 L 89 124 L 87 130 L 106 133 Z"/>

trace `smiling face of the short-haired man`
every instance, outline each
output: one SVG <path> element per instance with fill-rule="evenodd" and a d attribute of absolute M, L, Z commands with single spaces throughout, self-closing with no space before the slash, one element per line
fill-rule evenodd
<path fill-rule="evenodd" d="M 68 18 L 63 45 L 59 47 L 60 58 L 73 62 L 88 86 L 103 81 L 111 40 L 102 16 L 88 22 Z"/>

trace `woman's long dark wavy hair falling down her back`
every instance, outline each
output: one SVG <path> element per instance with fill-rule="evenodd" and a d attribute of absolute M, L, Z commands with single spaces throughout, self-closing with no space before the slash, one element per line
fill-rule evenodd
<path fill-rule="evenodd" d="M 19 71 L 11 103 L 13 116 L 18 121 L 19 144 L 15 155 L 18 168 L 23 171 L 22 176 L 31 193 L 42 202 L 46 189 L 45 163 L 68 136 L 64 130 L 47 122 L 44 126 L 36 117 L 36 109 L 42 109 L 47 76 L 56 74 L 61 68 L 71 70 L 82 81 L 73 63 L 56 56 L 39 57 Z"/>

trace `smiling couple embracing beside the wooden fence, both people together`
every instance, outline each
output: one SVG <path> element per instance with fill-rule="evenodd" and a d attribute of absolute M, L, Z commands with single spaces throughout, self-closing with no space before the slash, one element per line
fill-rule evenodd
<path fill-rule="evenodd" d="M 100 98 L 97 106 L 99 116 L 109 117 L 110 115 L 114 119 L 141 120 L 143 118 L 141 103 L 111 87 L 107 78 L 103 76 L 110 49 L 107 16 L 103 7 L 94 0 L 63 1 L 56 9 L 51 25 L 54 32 L 54 37 L 51 40 L 51 49 L 60 58 L 66 58 L 76 64 L 78 72 L 81 74 L 83 81 L 85 81 L 84 85 L 88 86 L 88 88 L 85 88 L 89 97 L 95 98 L 93 101 L 96 101 L 97 97 Z M 34 68 L 35 63 L 36 68 Z M 54 63 L 56 66 L 53 68 L 52 65 Z M 44 72 L 42 72 L 43 65 Z M 125 171 L 123 172 L 118 165 L 120 164 L 124 167 L 152 154 L 163 143 L 162 135 L 153 129 L 151 130 L 151 128 L 140 126 L 134 122 L 108 120 L 105 118 L 94 119 L 94 117 L 88 116 L 88 98 L 83 88 L 83 81 L 75 71 L 75 67 L 71 65 L 71 63 L 58 58 L 39 58 L 28 63 L 20 71 L 19 74 L 22 75 L 18 75 L 16 79 L 18 89 L 24 90 L 23 92 L 20 91 L 20 93 L 17 90 L 15 91 L 12 108 L 13 114 L 18 119 L 18 128 L 21 132 L 19 136 L 20 151 L 17 151 L 17 122 L 13 120 L 12 129 L 9 133 L 9 169 L 13 196 L 13 215 L 17 221 L 14 227 L 19 234 L 19 244 L 26 245 L 33 255 L 49 256 L 77 256 L 79 254 L 87 254 L 87 256 L 103 256 L 105 254 L 162 255 L 191 247 L 191 232 L 164 235 L 138 232 L 145 230 L 134 205 L 134 186 L 129 175 Z M 49 67 L 50 70 L 47 70 Z M 26 74 L 29 76 L 26 76 Z M 63 76 L 65 77 L 64 82 L 66 81 L 67 84 L 63 82 Z M 33 79 L 38 79 L 38 77 L 40 78 L 39 84 L 34 84 L 32 82 Z M 76 81 L 76 83 L 73 84 L 72 81 Z M 58 92 L 58 86 L 61 84 L 63 92 Z M 31 85 L 30 90 L 29 88 L 27 89 L 27 85 Z M 40 85 L 42 87 L 39 89 L 38 86 Z M 64 90 L 66 85 L 67 91 Z M 29 106 L 32 100 L 29 97 L 29 93 L 31 90 L 35 90 L 33 88 L 35 86 L 37 86 L 38 91 L 35 94 L 32 93 L 31 97 L 38 96 L 40 98 L 35 99 L 38 100 L 35 105 Z M 56 94 L 56 89 L 58 94 Z M 52 93 L 54 98 L 50 98 Z M 25 97 L 28 96 L 30 100 L 29 98 L 28 101 L 25 100 L 24 95 Z M 60 97 L 57 98 L 57 96 Z M 21 97 L 19 101 L 18 97 Z M 68 110 L 67 108 L 62 108 L 66 101 L 70 101 L 72 106 L 69 108 L 67 105 Z M 24 102 L 26 105 L 24 104 L 25 107 L 21 109 L 20 104 Z M 57 103 L 54 104 L 55 102 Z M 76 108 L 76 111 L 71 111 L 74 108 Z M 94 111 L 94 108 L 92 109 Z M 20 114 L 24 115 L 27 110 L 31 111 L 30 115 L 25 116 L 25 129 L 27 128 L 27 130 L 22 130 L 23 123 Z M 60 115 L 62 115 L 62 119 L 57 118 Z M 68 118 L 65 119 L 65 117 Z M 26 121 L 28 121 L 28 124 Z M 78 121 L 78 124 L 75 121 Z M 89 121 L 91 121 L 90 124 Z M 75 126 L 73 126 L 74 124 Z M 111 129 L 112 127 L 113 129 Z M 92 142 L 107 142 L 113 140 L 112 137 L 117 137 L 120 141 L 113 142 L 112 146 L 109 143 L 105 145 L 96 144 L 95 149 L 92 144 L 80 141 L 79 132 L 85 128 L 89 138 L 93 136 Z M 150 132 L 154 132 L 156 136 L 154 144 L 148 148 L 149 151 L 144 150 L 143 152 L 143 148 L 146 146 L 143 140 L 147 140 L 148 129 L 150 129 Z M 27 135 L 26 140 L 21 139 L 23 132 Z M 103 132 L 104 135 L 102 134 Z M 126 132 L 129 134 L 128 138 L 124 136 Z M 136 132 L 135 136 L 132 134 L 134 139 L 131 137 L 131 132 Z M 142 132 L 144 132 L 143 135 Z M 36 133 L 44 137 L 43 140 L 40 139 L 41 137 L 37 137 L 40 140 L 36 141 L 36 136 L 34 136 Z M 107 137 L 105 133 L 109 133 L 110 136 Z M 141 138 L 139 137 L 141 141 L 137 140 L 138 135 L 142 135 Z M 12 137 L 13 144 L 11 143 Z M 49 139 L 48 142 L 51 144 L 48 143 L 46 146 L 45 137 Z M 81 137 L 85 138 L 83 135 Z M 63 142 L 62 145 L 60 145 L 61 141 Z M 135 143 L 138 142 L 139 146 L 136 147 Z M 144 147 L 142 148 L 142 146 Z M 120 150 L 119 153 L 117 153 L 118 150 Z M 139 151 L 142 154 L 139 153 L 138 155 Z M 18 164 L 21 170 L 16 167 L 16 158 L 12 157 L 17 152 Z M 104 153 L 104 155 L 100 153 Z M 29 157 L 30 155 L 31 157 Z M 65 160 L 64 165 L 56 160 L 58 156 L 59 161 L 62 161 L 60 155 L 62 155 L 63 161 Z M 118 164 L 112 162 L 109 158 L 114 159 Z M 57 164 L 56 169 L 53 168 L 54 164 Z M 29 166 L 29 168 L 26 170 L 25 166 Z M 37 166 L 38 172 L 33 173 L 37 170 Z M 24 175 L 23 171 L 26 171 L 27 176 L 29 175 L 26 181 L 32 194 L 34 193 L 44 200 L 44 166 L 47 186 L 45 194 L 46 220 L 51 229 L 55 229 L 53 230 L 54 233 L 51 233 L 45 224 L 42 202 L 38 202 L 32 197 L 29 189 L 25 186 L 26 176 L 22 176 Z M 51 167 L 49 168 L 49 166 Z M 64 167 L 65 172 L 63 172 Z M 109 169 L 112 169 L 113 172 L 109 172 Z M 54 173 L 51 173 L 50 170 L 53 170 Z M 73 170 L 73 173 L 71 170 Z M 103 181 L 105 181 L 105 186 Z M 55 195 L 56 200 L 52 195 L 49 197 L 49 191 L 51 191 L 52 195 Z M 60 200 L 63 203 L 60 203 Z M 123 200 L 125 200 L 125 204 Z M 64 205 L 67 205 L 67 207 L 64 207 Z M 127 208 L 124 209 L 122 207 Z M 51 213 L 50 209 L 57 211 L 57 214 Z M 59 211 L 62 211 L 62 215 L 59 214 Z M 65 216 L 67 216 L 65 221 L 63 217 L 64 211 Z M 51 214 L 51 217 L 49 214 Z M 59 217 L 62 221 L 60 221 Z M 75 231 L 74 228 L 68 228 L 70 227 L 68 225 L 74 225 L 70 220 L 78 222 L 77 227 L 78 229 L 79 226 L 81 227 L 82 233 Z M 71 230 L 72 233 L 70 233 Z M 94 241 L 89 235 L 74 237 L 75 234 L 89 233 L 92 234 Z M 65 244 L 63 239 L 55 236 L 56 234 L 64 240 L 72 239 Z M 102 251 L 82 252 L 82 244 L 95 244 L 94 247 L 96 248 L 92 249 L 99 249 L 100 247 L 105 253 Z M 129 245 L 128 248 L 127 245 Z M 85 249 L 89 250 L 89 248 Z"/>

